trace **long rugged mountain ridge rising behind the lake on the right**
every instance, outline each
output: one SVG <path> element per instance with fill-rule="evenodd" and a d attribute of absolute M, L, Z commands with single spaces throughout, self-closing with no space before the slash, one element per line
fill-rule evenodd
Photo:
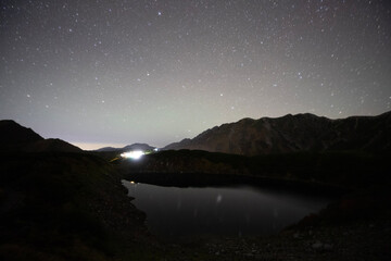
<path fill-rule="evenodd" d="M 391 112 L 342 120 L 306 114 L 243 119 L 207 129 L 164 150 L 205 150 L 243 156 L 303 151 L 390 151 Z"/>

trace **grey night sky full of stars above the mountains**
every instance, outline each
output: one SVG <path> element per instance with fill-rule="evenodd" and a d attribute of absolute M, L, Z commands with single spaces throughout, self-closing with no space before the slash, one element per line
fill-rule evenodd
<path fill-rule="evenodd" d="M 85 149 L 391 110 L 388 0 L 0 4 L 0 119 Z"/>

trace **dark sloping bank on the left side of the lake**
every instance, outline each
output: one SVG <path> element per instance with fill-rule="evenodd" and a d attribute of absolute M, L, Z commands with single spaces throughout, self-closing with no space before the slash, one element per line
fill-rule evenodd
<path fill-rule="evenodd" d="M 97 157 L 0 157 L 1 260 L 111 260 L 122 244 L 139 254 L 153 244 L 143 220 Z"/>

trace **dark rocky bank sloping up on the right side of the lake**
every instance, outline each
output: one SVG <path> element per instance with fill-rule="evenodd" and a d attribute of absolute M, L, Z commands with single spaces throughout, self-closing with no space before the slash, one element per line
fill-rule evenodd
<path fill-rule="evenodd" d="M 276 236 L 223 238 L 205 247 L 222 260 L 389 260 L 390 199 L 384 187 L 344 196 Z"/>

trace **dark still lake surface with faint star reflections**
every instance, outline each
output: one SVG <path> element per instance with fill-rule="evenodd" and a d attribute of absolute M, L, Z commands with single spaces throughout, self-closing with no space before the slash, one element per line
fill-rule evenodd
<path fill-rule="evenodd" d="M 161 187 L 123 181 L 160 236 L 269 235 L 319 211 L 327 198 L 254 187 Z"/>

